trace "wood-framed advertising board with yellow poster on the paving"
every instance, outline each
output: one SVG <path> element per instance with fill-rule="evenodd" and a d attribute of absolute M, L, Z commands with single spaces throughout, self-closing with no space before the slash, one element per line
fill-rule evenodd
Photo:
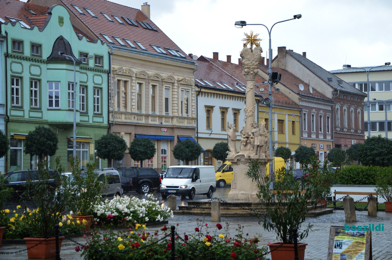
<path fill-rule="evenodd" d="M 328 260 L 372 260 L 372 231 L 331 226 Z"/>

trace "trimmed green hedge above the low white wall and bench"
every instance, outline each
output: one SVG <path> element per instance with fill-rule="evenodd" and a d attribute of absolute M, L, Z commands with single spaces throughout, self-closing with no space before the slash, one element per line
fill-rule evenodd
<path fill-rule="evenodd" d="M 338 172 L 339 185 L 376 185 L 378 172 L 390 171 L 392 167 L 342 165 Z"/>

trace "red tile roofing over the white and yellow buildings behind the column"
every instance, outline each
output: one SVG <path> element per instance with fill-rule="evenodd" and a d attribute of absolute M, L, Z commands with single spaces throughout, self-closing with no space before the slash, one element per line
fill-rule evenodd
<path fill-rule="evenodd" d="M 194 77 L 195 79 L 200 80 L 201 82 L 204 83 L 204 85 L 200 84 L 197 80 L 195 81 L 195 84 L 198 86 L 204 86 L 204 87 L 211 87 L 209 84 L 203 81 L 205 79 L 208 81 L 214 88 L 218 90 L 223 90 L 223 91 L 236 91 L 238 93 L 241 93 L 245 95 L 245 89 L 246 88 L 246 78 L 245 75 L 242 74 L 242 66 L 234 63 L 228 63 L 225 61 L 219 61 L 211 58 L 207 58 L 205 56 L 200 56 L 197 60 L 196 63 L 198 65 L 198 70 L 195 71 Z M 261 84 L 266 79 L 261 77 L 260 75 L 256 75 L 255 78 L 255 84 Z M 217 82 L 219 82 L 221 85 L 225 86 L 223 83 L 227 84 L 232 88 L 230 90 L 225 86 L 223 88 L 220 86 Z M 238 89 L 237 86 L 234 85 L 234 83 L 238 83 Z M 264 91 L 261 92 L 260 88 L 264 88 Z M 273 102 L 274 105 L 277 106 L 286 106 L 290 108 L 300 108 L 298 104 L 296 104 L 293 100 L 291 100 L 289 97 L 287 97 L 283 93 L 279 92 L 273 92 Z M 268 97 L 268 85 L 257 85 L 255 89 L 255 94 L 258 96 L 263 96 L 263 98 Z"/>

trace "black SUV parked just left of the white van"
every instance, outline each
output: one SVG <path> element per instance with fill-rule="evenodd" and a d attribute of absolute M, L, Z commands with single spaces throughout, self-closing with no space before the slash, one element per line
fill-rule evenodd
<path fill-rule="evenodd" d="M 117 167 L 115 169 L 120 176 L 132 178 L 133 190 L 136 192 L 147 193 L 151 189 L 159 190 L 162 178 L 155 169 L 139 167 Z"/>

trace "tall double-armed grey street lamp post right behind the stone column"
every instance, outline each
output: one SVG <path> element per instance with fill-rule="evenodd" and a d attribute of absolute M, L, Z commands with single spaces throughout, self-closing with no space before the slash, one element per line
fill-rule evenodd
<path fill-rule="evenodd" d="M 261 24 L 261 23 L 248 23 L 248 24 L 247 24 L 245 21 L 237 21 L 237 22 L 234 23 L 235 27 L 237 27 L 237 28 L 242 28 L 242 27 L 247 26 L 247 25 L 263 25 L 263 26 L 267 29 L 267 31 L 268 31 L 268 36 L 269 36 L 269 54 L 268 54 L 268 55 L 269 55 L 269 62 L 268 62 L 268 75 L 269 75 L 269 79 L 268 79 L 268 98 L 269 98 L 269 100 L 272 100 L 272 84 L 273 84 L 273 82 L 272 82 L 271 79 L 270 79 L 270 77 L 271 77 L 271 75 L 272 75 L 272 47 L 271 47 L 271 31 L 272 31 L 272 28 L 273 28 L 274 25 L 276 25 L 277 23 L 287 22 L 287 21 L 290 21 L 290 20 L 299 19 L 299 18 L 301 18 L 301 17 L 302 17 L 301 14 L 296 14 L 296 15 L 294 15 L 294 18 L 291 18 L 291 19 L 287 19 L 287 20 L 283 20 L 283 21 L 274 23 L 274 24 L 271 26 L 270 29 L 268 29 L 268 27 L 267 27 L 266 25 L 263 25 L 263 24 Z M 268 106 L 269 106 L 269 104 L 268 104 Z M 269 122 L 268 122 L 269 152 L 270 152 L 270 156 L 272 157 L 272 156 L 273 156 L 273 155 L 272 155 L 272 106 L 269 106 L 269 108 L 268 108 L 268 117 L 269 117 Z M 272 164 L 273 164 L 273 161 L 271 161 L 271 162 L 269 163 L 269 172 L 270 172 L 270 173 L 272 172 Z M 270 176 L 270 178 L 272 178 L 272 174 L 270 174 L 269 176 Z M 272 181 L 273 181 L 273 180 L 274 180 L 274 179 L 272 178 Z"/>

